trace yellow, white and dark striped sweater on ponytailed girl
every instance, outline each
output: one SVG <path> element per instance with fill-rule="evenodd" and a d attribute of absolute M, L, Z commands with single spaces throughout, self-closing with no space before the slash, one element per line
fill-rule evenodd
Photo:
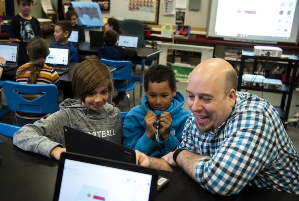
<path fill-rule="evenodd" d="M 18 68 L 17 73 L 24 68 L 29 67 L 30 63 L 26 63 Z M 24 72 L 22 75 L 16 76 L 16 82 L 25 83 L 27 84 L 28 78 L 30 76 L 30 71 Z M 55 84 L 58 86 L 59 84 L 59 75 L 58 73 L 52 68 L 47 66 L 46 64 L 42 68 L 39 73 L 39 76 L 36 79 L 36 84 Z M 26 98 L 27 100 L 34 100 L 37 97 L 41 96 L 41 94 L 20 94 L 22 97 Z M 50 114 L 33 114 L 33 113 L 24 113 L 24 112 L 16 112 L 16 116 L 25 118 L 25 119 L 40 119 L 48 117 Z"/>

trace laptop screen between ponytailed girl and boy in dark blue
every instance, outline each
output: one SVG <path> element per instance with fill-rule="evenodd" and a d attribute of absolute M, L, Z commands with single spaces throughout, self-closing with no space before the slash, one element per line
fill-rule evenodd
<path fill-rule="evenodd" d="M 46 57 L 46 64 L 68 66 L 69 48 L 49 47 L 50 54 Z"/>

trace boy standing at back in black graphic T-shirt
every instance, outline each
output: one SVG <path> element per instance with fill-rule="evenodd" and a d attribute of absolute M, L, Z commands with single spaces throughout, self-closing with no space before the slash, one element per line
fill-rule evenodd
<path fill-rule="evenodd" d="M 34 36 L 42 38 L 39 21 L 30 15 L 32 4 L 33 0 L 17 0 L 17 6 L 21 12 L 11 20 L 8 34 L 10 42 L 28 42 Z"/>

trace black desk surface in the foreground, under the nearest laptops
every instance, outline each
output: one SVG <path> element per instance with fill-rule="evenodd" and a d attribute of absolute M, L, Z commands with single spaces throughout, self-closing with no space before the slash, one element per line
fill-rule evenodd
<path fill-rule="evenodd" d="M 1 200 L 52 200 L 58 161 L 0 143 L 3 158 L 0 167 Z M 221 197 L 201 188 L 186 174 L 161 171 L 170 179 L 156 200 L 299 200 L 299 195 L 246 186 L 238 195 Z"/>

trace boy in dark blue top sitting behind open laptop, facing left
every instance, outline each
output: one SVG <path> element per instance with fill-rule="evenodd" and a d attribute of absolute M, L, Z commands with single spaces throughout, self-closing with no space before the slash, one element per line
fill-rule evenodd
<path fill-rule="evenodd" d="M 68 37 L 70 37 L 71 32 L 72 32 L 72 26 L 68 21 L 62 20 L 57 22 L 55 24 L 54 34 L 53 34 L 56 42 L 51 43 L 50 45 L 71 47 L 70 62 L 78 63 L 78 51 L 76 50 L 72 42 L 68 42 Z"/>

